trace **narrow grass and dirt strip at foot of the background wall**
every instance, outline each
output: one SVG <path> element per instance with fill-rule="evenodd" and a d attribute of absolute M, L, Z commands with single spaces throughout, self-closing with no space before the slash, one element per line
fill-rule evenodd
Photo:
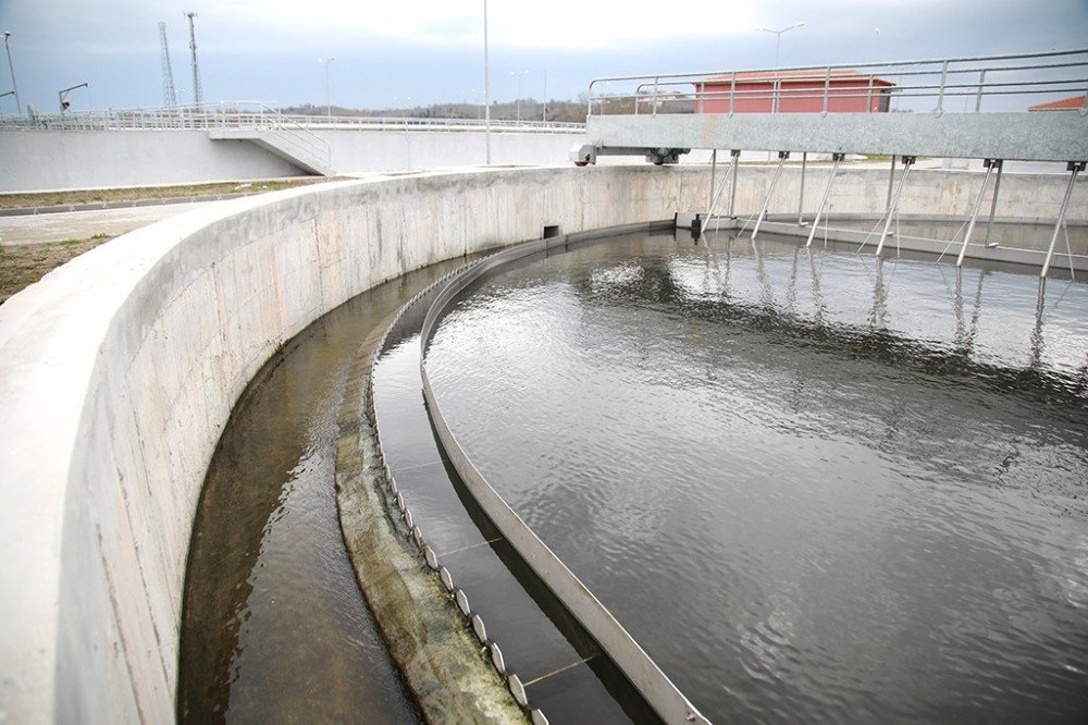
<path fill-rule="evenodd" d="M 217 194 L 256 194 L 279 192 L 284 188 L 343 181 L 342 177 L 300 176 L 255 182 L 224 182 L 219 184 L 188 184 L 185 186 L 148 186 L 144 188 L 99 188 L 74 192 L 36 192 L 33 194 L 0 194 L 0 209 L 52 207 L 66 204 L 94 204 L 96 201 L 138 201 L 141 199 L 172 199 L 181 196 L 214 196 Z"/>

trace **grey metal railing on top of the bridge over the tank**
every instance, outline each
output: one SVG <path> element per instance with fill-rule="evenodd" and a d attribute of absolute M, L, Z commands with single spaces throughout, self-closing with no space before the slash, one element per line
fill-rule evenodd
<path fill-rule="evenodd" d="M 588 115 L 1026 111 L 1088 91 L 1088 49 L 595 78 Z M 957 101 L 962 101 L 959 103 Z M 1079 102 L 1088 114 L 1088 100 Z"/>

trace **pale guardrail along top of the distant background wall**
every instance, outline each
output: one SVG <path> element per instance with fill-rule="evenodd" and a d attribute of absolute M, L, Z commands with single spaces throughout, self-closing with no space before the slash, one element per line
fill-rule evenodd
<path fill-rule="evenodd" d="M 109 109 L 64 113 L 0 115 L 0 130 L 33 131 L 158 131 L 191 128 L 264 128 L 271 124 L 316 130 L 480 130 L 478 119 L 426 119 L 407 116 L 342 116 L 281 113 L 264 101 L 214 101 L 173 108 Z M 557 121 L 492 120 L 494 131 L 533 131 L 570 133 L 585 128 L 583 123 Z"/>

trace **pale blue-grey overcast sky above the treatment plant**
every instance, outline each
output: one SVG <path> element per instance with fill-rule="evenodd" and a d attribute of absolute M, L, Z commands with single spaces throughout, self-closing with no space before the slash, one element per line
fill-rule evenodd
<path fill-rule="evenodd" d="M 472 100 L 483 89 L 483 0 L 0 0 L 24 106 L 162 105 L 159 21 L 191 100 L 196 11 L 206 100 L 354 108 Z M 1088 45 L 1088 0 L 490 0 L 491 95 L 576 98 L 595 76 L 861 63 Z M 2 49 L 0 49 L 2 52 Z M 11 89 L 7 58 L 0 93 Z M 477 96 L 473 96 L 473 91 Z M 396 99 L 395 99 L 396 97 Z M 14 99 L 0 99 L 14 112 Z"/>

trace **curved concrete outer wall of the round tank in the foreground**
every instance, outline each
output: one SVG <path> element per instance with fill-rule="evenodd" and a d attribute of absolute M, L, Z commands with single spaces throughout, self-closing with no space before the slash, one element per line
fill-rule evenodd
<path fill-rule="evenodd" d="M 962 212 L 980 180 L 925 173 L 905 212 Z M 742 169 L 739 211 L 755 212 L 769 175 Z M 844 174 L 840 211 L 882 209 L 886 180 Z M 772 209 L 795 209 L 798 181 Z M 0 306 L 0 721 L 173 718 L 205 471 L 285 341 L 383 280 L 545 225 L 705 208 L 707 182 L 691 167 L 480 170 L 225 201 L 119 237 Z M 1007 177 L 1004 213 L 1052 216 L 1061 186 Z"/>

